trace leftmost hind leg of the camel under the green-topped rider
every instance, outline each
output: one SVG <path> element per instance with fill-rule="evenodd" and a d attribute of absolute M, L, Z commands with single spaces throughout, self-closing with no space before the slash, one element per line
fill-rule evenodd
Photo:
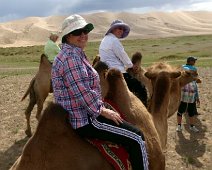
<path fill-rule="evenodd" d="M 32 112 L 35 104 L 36 104 L 36 100 L 35 100 L 35 98 L 31 97 L 31 94 L 30 94 L 29 105 L 25 111 L 25 117 L 26 117 L 26 121 L 27 121 L 27 129 L 25 130 L 25 134 L 28 137 L 32 136 L 31 126 L 30 126 L 30 116 L 31 116 L 31 112 Z"/>

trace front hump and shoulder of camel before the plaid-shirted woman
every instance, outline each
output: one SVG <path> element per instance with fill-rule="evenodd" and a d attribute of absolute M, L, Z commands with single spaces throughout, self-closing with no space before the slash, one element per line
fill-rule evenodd
<path fill-rule="evenodd" d="M 98 62 L 94 68 L 100 76 L 103 98 L 116 105 L 126 120 L 143 132 L 147 144 L 149 169 L 165 169 L 165 156 L 152 115 L 143 103 L 129 91 L 120 71 L 116 69 L 107 71 L 108 66 L 103 62 Z"/>

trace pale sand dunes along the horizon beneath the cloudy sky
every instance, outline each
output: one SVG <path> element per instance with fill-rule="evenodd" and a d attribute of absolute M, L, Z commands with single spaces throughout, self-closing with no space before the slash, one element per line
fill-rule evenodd
<path fill-rule="evenodd" d="M 102 39 L 114 19 L 122 19 L 130 25 L 128 39 L 212 34 L 212 12 L 103 12 L 82 16 L 95 26 L 89 35 L 90 41 Z M 67 16 L 29 17 L 0 23 L 0 47 L 42 45 L 50 32 L 61 31 L 65 17 Z"/>

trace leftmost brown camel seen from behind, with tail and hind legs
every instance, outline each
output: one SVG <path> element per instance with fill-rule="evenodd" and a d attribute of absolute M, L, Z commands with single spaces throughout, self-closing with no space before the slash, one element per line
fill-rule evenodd
<path fill-rule="evenodd" d="M 41 112 L 43 109 L 43 104 L 49 93 L 52 92 L 51 87 L 51 68 L 52 65 L 49 62 L 47 56 L 45 54 L 41 55 L 40 66 L 35 77 L 32 78 L 27 91 L 22 97 L 21 101 L 23 101 L 28 95 L 29 104 L 27 109 L 25 110 L 25 116 L 27 121 L 27 129 L 25 133 L 27 136 L 32 135 L 31 126 L 30 126 L 30 116 L 31 111 L 33 110 L 35 104 L 37 104 L 37 120 L 40 119 Z"/>

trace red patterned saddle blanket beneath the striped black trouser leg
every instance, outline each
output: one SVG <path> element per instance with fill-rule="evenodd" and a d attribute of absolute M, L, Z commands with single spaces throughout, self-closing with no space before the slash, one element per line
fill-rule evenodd
<path fill-rule="evenodd" d="M 107 161 L 114 166 L 115 170 L 131 169 L 129 155 L 122 146 L 98 139 L 89 139 L 88 141 L 99 149 Z"/>

